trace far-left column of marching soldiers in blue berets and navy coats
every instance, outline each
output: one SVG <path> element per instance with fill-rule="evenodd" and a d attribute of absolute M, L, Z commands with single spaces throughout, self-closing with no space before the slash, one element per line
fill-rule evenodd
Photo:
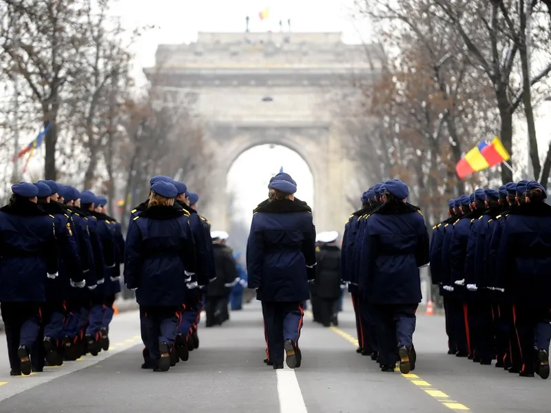
<path fill-rule="evenodd" d="M 109 348 L 124 253 L 107 199 L 53 180 L 0 209 L 0 308 L 12 376 Z"/>

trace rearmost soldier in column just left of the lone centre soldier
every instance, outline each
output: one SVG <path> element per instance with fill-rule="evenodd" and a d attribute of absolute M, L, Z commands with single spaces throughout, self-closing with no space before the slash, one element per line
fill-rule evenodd
<path fill-rule="evenodd" d="M 125 245 L 125 281 L 143 306 L 146 348 L 154 371 L 160 372 L 171 366 L 170 348 L 186 290 L 197 284 L 189 214 L 174 208 L 176 195 L 174 184 L 155 182 L 148 207 L 134 218 Z"/>

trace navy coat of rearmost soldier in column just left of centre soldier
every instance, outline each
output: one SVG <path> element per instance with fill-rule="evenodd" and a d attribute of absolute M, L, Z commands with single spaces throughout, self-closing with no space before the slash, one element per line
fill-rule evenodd
<path fill-rule="evenodd" d="M 125 244 L 125 282 L 141 306 L 181 306 L 196 272 L 189 215 L 167 206 L 149 207 L 134 218 Z"/>

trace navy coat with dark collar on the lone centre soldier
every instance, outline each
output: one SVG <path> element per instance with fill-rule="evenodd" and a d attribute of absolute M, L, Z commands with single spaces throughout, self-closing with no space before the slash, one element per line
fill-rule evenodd
<path fill-rule="evenodd" d="M 306 202 L 273 200 L 256 207 L 247 242 L 249 288 L 260 301 L 304 301 L 315 279 L 315 226 Z"/>

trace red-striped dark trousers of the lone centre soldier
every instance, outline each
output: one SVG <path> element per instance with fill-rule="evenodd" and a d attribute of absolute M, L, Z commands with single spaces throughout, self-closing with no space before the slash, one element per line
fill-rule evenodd
<path fill-rule="evenodd" d="M 304 301 L 262 301 L 266 328 L 268 358 L 274 364 L 283 363 L 283 343 L 291 340 L 298 347 Z"/>

